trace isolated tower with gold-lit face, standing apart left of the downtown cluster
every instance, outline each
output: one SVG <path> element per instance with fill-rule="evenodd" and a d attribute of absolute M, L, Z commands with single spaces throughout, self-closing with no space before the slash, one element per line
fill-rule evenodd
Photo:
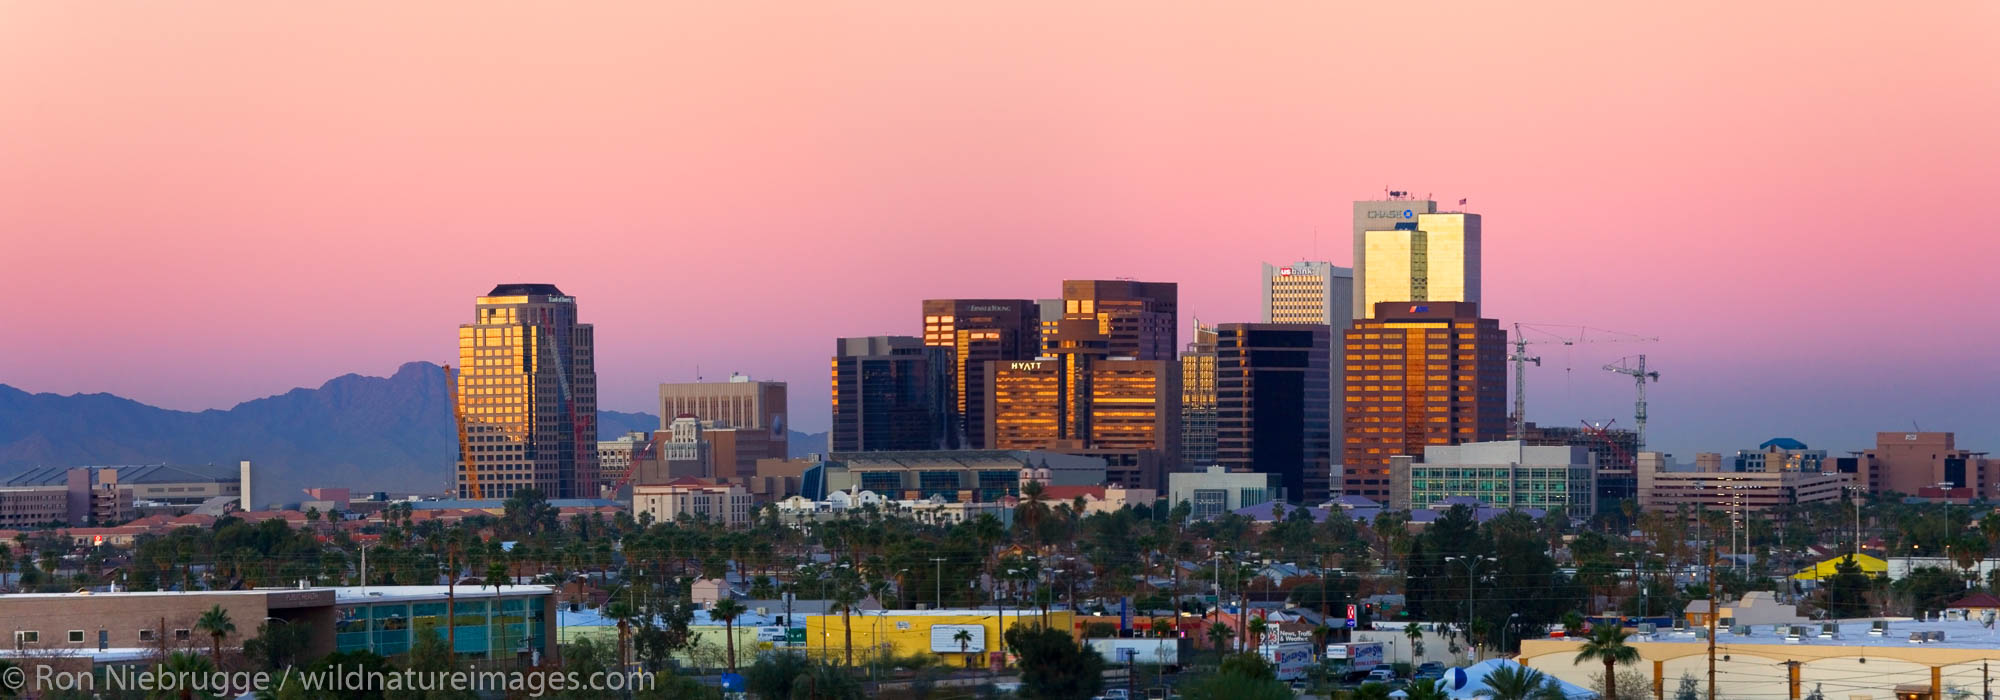
<path fill-rule="evenodd" d="M 466 448 L 458 498 L 598 496 L 598 372 L 590 324 L 554 284 L 500 284 L 458 326 Z"/>

